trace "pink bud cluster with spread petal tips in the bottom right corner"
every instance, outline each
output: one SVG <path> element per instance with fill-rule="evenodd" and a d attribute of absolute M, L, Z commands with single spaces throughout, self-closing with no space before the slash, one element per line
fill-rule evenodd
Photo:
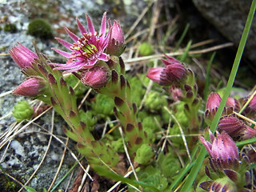
<path fill-rule="evenodd" d="M 206 175 L 212 180 L 200 186 L 207 191 L 246 191 L 250 181 L 249 160 L 238 153 L 238 147 L 225 131 L 217 132 L 217 138 L 210 132 L 210 142 L 199 137 L 206 147 L 210 158 L 210 169 L 205 167 Z"/>

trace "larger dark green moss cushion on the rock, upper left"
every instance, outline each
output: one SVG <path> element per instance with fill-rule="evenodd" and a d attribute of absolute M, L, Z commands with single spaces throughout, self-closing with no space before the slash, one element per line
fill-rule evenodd
<path fill-rule="evenodd" d="M 50 23 L 42 18 L 35 18 L 32 20 L 28 26 L 27 33 L 42 39 L 54 37 Z"/>

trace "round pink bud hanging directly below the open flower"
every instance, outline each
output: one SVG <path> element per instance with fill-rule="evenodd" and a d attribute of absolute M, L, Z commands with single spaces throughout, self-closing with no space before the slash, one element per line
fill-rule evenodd
<path fill-rule="evenodd" d="M 109 78 L 108 71 L 104 66 L 94 66 L 82 72 L 81 76 L 81 82 L 93 89 L 100 89 L 105 86 Z"/>

